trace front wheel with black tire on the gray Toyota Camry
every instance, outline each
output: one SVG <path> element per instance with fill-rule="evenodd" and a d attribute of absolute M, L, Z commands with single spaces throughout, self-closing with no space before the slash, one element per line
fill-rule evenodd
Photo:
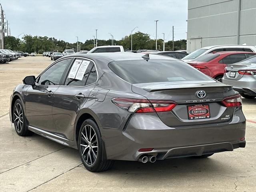
<path fill-rule="evenodd" d="M 26 116 L 20 99 L 17 99 L 14 103 L 12 117 L 14 120 L 15 131 L 19 136 L 30 136 L 34 134 L 34 132 L 28 130 Z"/>

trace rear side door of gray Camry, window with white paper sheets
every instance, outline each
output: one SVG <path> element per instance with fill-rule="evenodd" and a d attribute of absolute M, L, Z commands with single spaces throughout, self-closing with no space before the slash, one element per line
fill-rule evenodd
<path fill-rule="evenodd" d="M 52 115 L 56 134 L 74 140 L 74 125 L 97 80 L 92 60 L 75 58 L 66 71 L 62 86 L 54 93 Z"/>

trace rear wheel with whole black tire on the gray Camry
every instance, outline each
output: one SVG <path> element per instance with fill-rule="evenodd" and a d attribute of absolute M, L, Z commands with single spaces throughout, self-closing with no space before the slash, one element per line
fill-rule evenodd
<path fill-rule="evenodd" d="M 91 129 L 92 132 L 95 133 L 96 137 L 87 137 L 86 130 L 88 129 Z M 86 139 L 84 136 L 86 136 Z M 96 144 L 98 147 L 95 146 Z M 84 164 L 85 168 L 91 172 L 106 171 L 110 169 L 114 164 L 113 160 L 104 159 L 105 148 L 102 142 L 100 130 L 93 119 L 85 120 L 80 127 L 78 136 L 78 150 L 82 163 Z M 89 158 L 89 153 L 92 154 L 92 156 L 90 156 L 90 158 L 92 157 L 91 160 Z M 94 157 L 95 154 L 96 158 Z"/>

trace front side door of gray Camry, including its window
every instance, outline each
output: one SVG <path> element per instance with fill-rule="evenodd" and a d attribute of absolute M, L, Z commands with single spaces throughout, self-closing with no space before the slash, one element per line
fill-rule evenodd
<path fill-rule="evenodd" d="M 71 60 L 60 60 L 51 65 L 36 78 L 36 84 L 26 91 L 26 118 L 30 126 L 55 132 L 52 118 L 54 92 L 58 90 Z"/>

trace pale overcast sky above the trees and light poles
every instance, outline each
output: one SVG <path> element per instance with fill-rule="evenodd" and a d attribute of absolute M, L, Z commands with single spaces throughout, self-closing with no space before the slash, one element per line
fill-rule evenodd
<path fill-rule="evenodd" d="M 66 42 L 93 39 L 120 40 L 131 30 L 166 41 L 186 39 L 187 0 L 0 0 L 10 33 L 48 36 Z M 133 32 L 133 33 L 134 33 Z M 22 34 L 23 35 L 23 34 Z M 21 35 L 21 36 L 22 36 Z M 20 36 L 20 37 L 21 37 Z"/>

